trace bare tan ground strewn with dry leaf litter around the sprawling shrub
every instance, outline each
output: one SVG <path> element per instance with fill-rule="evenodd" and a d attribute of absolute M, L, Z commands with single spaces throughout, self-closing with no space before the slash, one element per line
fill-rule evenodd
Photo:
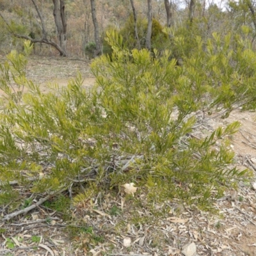
<path fill-rule="evenodd" d="M 88 61 L 82 60 L 34 56 L 29 60 L 28 78 L 40 84 L 42 91 L 46 92 L 47 83 L 66 86 L 67 80 L 75 77 L 77 70 L 84 77 L 84 86 L 92 86 L 95 78 Z M 235 164 L 241 170 L 250 168 L 256 172 L 256 113 L 238 109 L 225 120 L 218 116 L 209 118 L 205 132 L 235 120 L 241 122 L 241 129 L 231 138 L 230 147 L 236 152 Z M 197 135 L 202 133 L 204 131 L 198 131 Z M 233 193 L 227 191 L 227 195 L 234 196 L 234 202 L 220 200 L 214 205 L 220 210 L 218 216 L 184 207 L 180 208 L 180 215 L 173 211 L 170 218 L 149 218 L 150 221 L 141 223 L 140 227 L 127 222 L 137 209 L 129 200 L 125 201 L 124 193 L 105 195 L 100 202 L 99 198 L 92 198 L 90 202 L 77 205 L 70 214 L 74 219 L 81 218 L 88 223 L 95 237 L 104 238 L 97 244 L 86 234 L 73 235 L 74 239 L 70 240 L 61 213 L 37 207 L 26 218 L 19 216 L 9 223 L 0 224 L 0 231 L 7 228 L 0 238 L 0 255 L 181 255 L 180 249 L 188 243 L 196 244 L 197 255 L 256 255 L 255 190 L 252 184 L 241 184 L 237 194 Z M 135 196 L 143 200 L 144 195 Z M 109 214 L 115 207 L 122 212 Z M 156 204 L 156 207 L 161 211 L 161 205 Z M 150 216 L 147 209 L 138 214 Z M 120 226 L 118 232 L 116 225 Z M 78 225 L 77 228 L 81 227 Z M 35 236 L 40 237 L 37 243 L 32 239 Z M 124 241 L 129 239 L 132 244 L 125 248 Z M 14 248 L 8 247 L 11 242 Z"/>

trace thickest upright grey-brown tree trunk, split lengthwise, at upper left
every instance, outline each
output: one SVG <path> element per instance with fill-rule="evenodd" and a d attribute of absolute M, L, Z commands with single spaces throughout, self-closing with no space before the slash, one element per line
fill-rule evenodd
<path fill-rule="evenodd" d="M 65 4 L 64 0 L 52 0 L 54 4 L 53 16 L 58 33 L 58 40 L 60 48 L 63 52 L 60 52 L 61 56 L 67 56 L 66 43 L 67 43 L 67 22 L 65 17 Z"/>

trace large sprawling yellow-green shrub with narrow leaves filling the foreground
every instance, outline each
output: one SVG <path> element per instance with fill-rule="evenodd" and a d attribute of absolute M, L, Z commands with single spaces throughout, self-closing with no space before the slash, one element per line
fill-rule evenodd
<path fill-rule="evenodd" d="M 97 83 L 90 91 L 77 76 L 67 88 L 43 94 L 26 79 L 26 54 L 11 52 L 1 65 L 0 88 L 6 93 L 0 115 L 2 182 L 19 180 L 33 193 L 49 193 L 84 177 L 81 200 L 134 182 L 147 191 L 143 204 L 179 198 L 212 207 L 214 198 L 247 173 L 228 168 L 234 153 L 227 137 L 239 123 L 199 140 L 189 136 L 200 125 L 195 113 L 216 108 L 228 115 L 237 104 L 255 108 L 256 79 L 249 42 L 237 38 L 234 51 L 230 36 L 212 37 L 206 45 L 196 37 L 198 51 L 177 67 L 169 51 L 152 58 L 147 49 L 125 49 L 118 33 L 108 33 L 112 60 L 93 61 Z M 29 47 L 27 42 L 27 54 Z M 12 79 L 18 92 L 12 91 Z M 51 166 L 44 175 L 42 163 Z M 87 180 L 93 170 L 93 180 Z M 10 186 L 1 187 L 8 195 Z"/>

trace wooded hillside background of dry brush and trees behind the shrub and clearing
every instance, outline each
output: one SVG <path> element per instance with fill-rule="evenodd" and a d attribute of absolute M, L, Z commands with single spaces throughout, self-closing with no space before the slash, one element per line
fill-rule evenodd
<path fill-rule="evenodd" d="M 61 4 L 64 8 L 60 7 Z M 196 36 L 202 36 L 204 40 L 207 40 L 207 38 L 211 38 L 213 32 L 220 33 L 222 36 L 227 35 L 227 33 L 241 33 L 242 26 L 250 28 L 250 36 L 253 41 L 253 30 L 256 26 L 253 4 L 252 1 L 248 0 L 228 1 L 227 3 L 194 0 L 1 0 L 0 13 L 3 19 L 0 20 L 2 30 L 0 51 L 7 53 L 13 47 L 22 50 L 22 40 L 18 38 L 27 38 L 35 42 L 36 54 L 56 55 L 58 51 L 65 51 L 61 54 L 67 53 L 69 56 L 92 58 L 95 47 L 99 53 L 108 52 L 106 49 L 108 47 L 104 44 L 108 29 L 120 31 L 121 35 L 125 36 L 125 40 L 129 38 L 130 41 L 128 40 L 127 43 L 130 44 L 131 48 L 139 47 L 140 41 L 143 47 L 143 41 L 146 40 L 147 36 L 148 19 L 154 19 L 152 48 L 170 49 L 170 41 L 164 41 L 164 38 L 158 35 L 161 34 L 164 27 L 172 29 L 172 32 L 169 33 L 172 36 L 186 36 L 186 45 L 184 45 L 186 51 L 193 48 L 193 40 Z M 134 9 L 132 9 L 132 5 Z M 60 10 L 60 14 L 55 16 L 53 15 L 54 6 L 56 6 L 56 10 Z M 61 10 L 64 10 L 62 14 Z M 139 29 L 137 32 L 139 33 L 138 39 L 133 28 L 134 13 Z M 54 17 L 58 17 L 55 22 Z M 93 17 L 95 18 L 92 19 Z M 191 23 L 189 27 L 188 20 Z M 59 38 L 61 34 L 65 35 L 67 45 L 61 45 L 63 44 Z M 131 42 L 135 39 L 138 40 L 137 45 Z"/>

